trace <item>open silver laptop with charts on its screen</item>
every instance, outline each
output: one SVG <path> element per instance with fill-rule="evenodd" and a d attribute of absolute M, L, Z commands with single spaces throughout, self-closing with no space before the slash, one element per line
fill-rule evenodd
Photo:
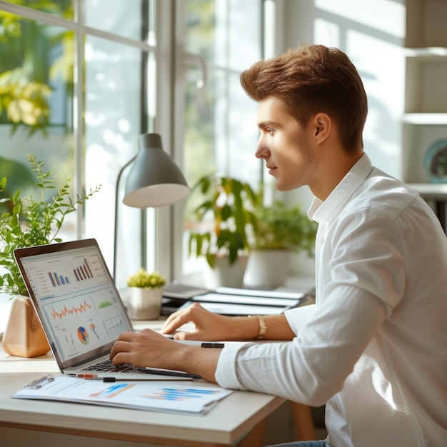
<path fill-rule="evenodd" d="M 17 248 L 14 257 L 61 373 L 125 380 L 181 378 L 171 376 L 171 370 L 162 370 L 161 376 L 154 375 L 156 368 L 111 365 L 114 342 L 134 328 L 96 239 Z M 177 372 L 181 374 L 172 371 Z"/>

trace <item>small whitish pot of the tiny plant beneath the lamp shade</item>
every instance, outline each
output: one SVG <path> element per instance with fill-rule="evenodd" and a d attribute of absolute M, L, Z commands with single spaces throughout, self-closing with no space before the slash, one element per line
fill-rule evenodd
<path fill-rule="evenodd" d="M 162 288 L 131 287 L 127 312 L 133 320 L 156 320 L 161 312 Z"/>

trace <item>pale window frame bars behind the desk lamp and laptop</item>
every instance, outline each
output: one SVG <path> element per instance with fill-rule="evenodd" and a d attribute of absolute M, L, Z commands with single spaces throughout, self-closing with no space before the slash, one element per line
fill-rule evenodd
<path fill-rule="evenodd" d="M 280 23 L 282 2 L 278 0 L 259 0 L 269 2 L 276 7 L 276 24 Z M 84 148 L 84 97 L 81 94 L 84 84 L 84 36 L 91 35 L 120 44 L 132 46 L 141 51 L 156 54 L 156 91 L 162 101 L 156 100 L 156 118 L 154 131 L 161 134 L 164 150 L 173 157 L 181 167 L 183 161 L 184 136 L 184 86 L 182 76 L 179 76 L 181 67 L 186 62 L 187 54 L 184 51 L 184 0 L 154 0 L 156 6 L 156 46 L 146 41 L 136 41 L 124 36 L 101 31 L 84 24 L 84 0 L 73 0 L 74 20 L 52 16 L 45 12 L 29 9 L 26 6 L 16 5 L 0 0 L 0 7 L 4 11 L 22 16 L 26 19 L 41 21 L 51 26 L 74 31 L 76 54 L 74 60 L 74 182 L 75 194 L 84 191 L 85 176 L 85 148 Z M 265 20 L 263 14 L 263 20 Z M 275 39 L 278 39 L 279 27 L 275 27 Z M 262 36 L 264 39 L 264 36 Z M 265 43 L 262 44 L 265 46 Z M 80 63 L 81 61 L 81 63 Z M 147 119 L 145 116 L 142 123 Z M 147 123 L 146 123 L 147 124 Z M 142 129 L 144 131 L 146 129 Z M 144 241 L 145 261 L 148 268 L 157 268 L 163 271 L 169 281 L 182 278 L 182 235 L 183 235 L 183 209 L 184 204 L 179 203 L 164 206 L 158 209 L 141 211 L 143 223 L 141 240 Z M 84 215 L 76 212 L 76 238 L 82 238 L 85 233 Z"/>

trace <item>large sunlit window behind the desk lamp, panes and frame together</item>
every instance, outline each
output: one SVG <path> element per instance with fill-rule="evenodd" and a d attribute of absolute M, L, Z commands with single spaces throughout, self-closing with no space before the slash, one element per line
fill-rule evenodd
<path fill-rule="evenodd" d="M 68 216 L 61 237 L 96 238 L 113 271 L 116 229 L 119 288 L 144 263 L 169 279 L 191 273 L 179 236 L 184 204 L 156 211 L 125 206 L 128 169 L 118 185 L 115 227 L 116 181 L 138 151 L 140 134 L 161 134 L 190 185 L 214 170 L 253 186 L 261 180 L 253 156 L 257 106 L 238 76 L 261 58 L 263 46 L 271 47 L 264 30 L 273 17 L 273 0 L 131 3 L 0 6 L 0 177 L 11 190 L 32 193 L 31 153 L 58 181 L 70 177 L 74 194 L 101 184 Z"/>

